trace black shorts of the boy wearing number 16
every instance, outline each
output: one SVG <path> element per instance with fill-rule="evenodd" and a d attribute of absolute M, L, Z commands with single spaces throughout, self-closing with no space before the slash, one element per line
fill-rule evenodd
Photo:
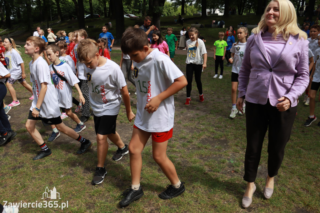
<path fill-rule="evenodd" d="M 116 134 L 116 121 L 118 115 L 93 115 L 94 130 L 96 134 L 109 135 Z"/>

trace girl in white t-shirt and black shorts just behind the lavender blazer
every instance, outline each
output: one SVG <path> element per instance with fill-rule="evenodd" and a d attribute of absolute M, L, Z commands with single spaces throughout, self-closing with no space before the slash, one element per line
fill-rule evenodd
<path fill-rule="evenodd" d="M 237 88 L 238 88 L 238 76 L 239 70 L 242 64 L 242 59 L 244 56 L 245 47 L 247 45 L 247 39 L 249 37 L 248 29 L 245 27 L 241 27 L 237 31 L 238 41 L 234 43 L 231 47 L 231 58 L 229 62 L 232 64 L 232 72 L 231 72 L 231 101 L 232 101 L 232 109 L 230 118 L 236 117 L 238 110 L 236 109 L 236 100 L 237 100 Z M 245 104 L 243 102 L 243 113 L 245 110 Z M 239 112 L 239 114 L 242 114 Z"/>

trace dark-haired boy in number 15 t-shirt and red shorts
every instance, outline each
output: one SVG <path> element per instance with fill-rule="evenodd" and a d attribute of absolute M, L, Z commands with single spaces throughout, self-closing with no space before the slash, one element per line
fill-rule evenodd
<path fill-rule="evenodd" d="M 134 78 L 137 86 L 137 116 L 129 143 L 131 188 L 122 193 L 121 207 L 143 196 L 140 186 L 141 153 L 152 137 L 153 159 L 160 166 L 171 185 L 159 194 L 171 199 L 185 191 L 173 163 L 166 155 L 168 139 L 172 137 L 174 120 L 173 94 L 187 85 L 187 80 L 170 58 L 148 46 L 144 31 L 128 28 L 121 40 L 121 50 L 134 61 Z"/>

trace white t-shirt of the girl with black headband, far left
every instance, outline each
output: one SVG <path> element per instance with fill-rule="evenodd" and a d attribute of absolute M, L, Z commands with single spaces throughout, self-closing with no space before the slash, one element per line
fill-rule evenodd
<path fill-rule="evenodd" d="M 20 54 L 15 49 L 11 49 L 11 51 L 5 52 L 4 60 L 11 74 L 11 78 L 15 80 L 20 79 L 22 77 L 22 70 L 20 64 L 23 63 Z"/>

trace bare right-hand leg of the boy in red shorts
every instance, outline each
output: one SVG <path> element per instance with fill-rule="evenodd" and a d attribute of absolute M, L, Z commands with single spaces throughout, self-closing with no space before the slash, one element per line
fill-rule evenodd
<path fill-rule="evenodd" d="M 168 140 L 162 143 L 152 141 L 152 154 L 155 162 L 160 166 L 161 170 L 169 179 L 170 183 L 174 185 L 179 182 L 179 178 L 177 175 L 176 168 L 174 167 L 170 159 L 167 157 L 167 145 Z"/>

